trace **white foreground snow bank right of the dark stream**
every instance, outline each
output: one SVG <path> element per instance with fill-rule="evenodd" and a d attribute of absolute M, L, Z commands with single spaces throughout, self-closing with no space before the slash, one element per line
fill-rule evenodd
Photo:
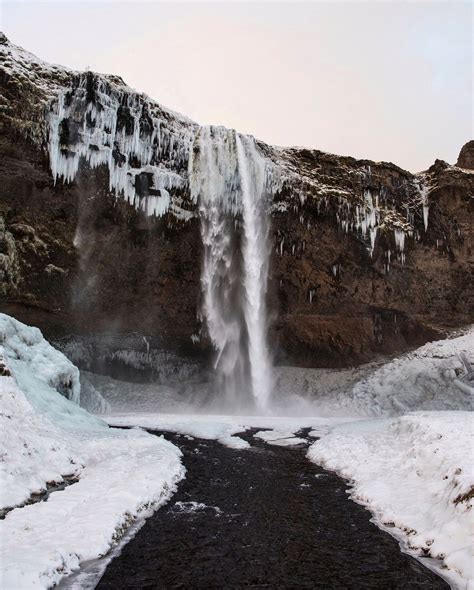
<path fill-rule="evenodd" d="M 474 588 L 474 418 L 414 412 L 346 424 L 314 443 L 315 463 L 353 481 L 352 497 L 416 554 Z"/>

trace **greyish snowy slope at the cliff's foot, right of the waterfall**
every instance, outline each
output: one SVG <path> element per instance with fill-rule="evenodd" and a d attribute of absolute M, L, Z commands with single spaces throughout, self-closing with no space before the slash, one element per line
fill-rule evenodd
<path fill-rule="evenodd" d="M 277 369 L 276 397 L 293 396 L 319 416 L 399 416 L 414 410 L 470 410 L 474 397 L 459 387 L 461 355 L 472 356 L 474 328 L 429 342 L 382 365 L 356 369 Z M 474 361 L 474 358 L 471 360 Z M 302 406 L 304 408 L 304 405 Z"/>

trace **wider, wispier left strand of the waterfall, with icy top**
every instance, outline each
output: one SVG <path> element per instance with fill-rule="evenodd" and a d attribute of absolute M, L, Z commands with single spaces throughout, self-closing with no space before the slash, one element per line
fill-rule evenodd
<path fill-rule="evenodd" d="M 198 156 L 191 163 L 191 190 L 198 198 L 204 260 L 201 271 L 203 315 L 217 357 L 219 387 L 227 401 L 237 401 L 245 384 L 242 358 L 242 318 L 238 306 L 238 259 L 233 235 L 235 209 L 232 179 L 237 174 L 232 135 L 225 129 L 211 136 L 200 130 Z"/>

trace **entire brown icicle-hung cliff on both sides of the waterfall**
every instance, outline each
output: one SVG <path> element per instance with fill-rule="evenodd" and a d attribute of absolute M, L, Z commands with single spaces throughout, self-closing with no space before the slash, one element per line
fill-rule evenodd
<path fill-rule="evenodd" d="M 139 333 L 207 359 L 199 126 L 116 76 L 50 66 L 5 37 L 0 50 L 2 311 L 50 338 Z M 472 321 L 473 142 L 417 175 L 257 145 L 277 362 L 364 362 Z"/>

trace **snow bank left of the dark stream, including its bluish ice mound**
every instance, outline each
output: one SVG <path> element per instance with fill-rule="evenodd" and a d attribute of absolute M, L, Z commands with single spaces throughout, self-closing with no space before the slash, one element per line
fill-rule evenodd
<path fill-rule="evenodd" d="M 0 314 L 0 339 L 0 507 L 13 508 L 0 522 L 0 578 L 5 590 L 48 588 L 170 497 L 184 476 L 181 452 L 109 428 L 60 395 L 65 384 L 78 394 L 78 371 L 39 330 Z M 77 483 L 23 505 L 71 475 Z"/>

